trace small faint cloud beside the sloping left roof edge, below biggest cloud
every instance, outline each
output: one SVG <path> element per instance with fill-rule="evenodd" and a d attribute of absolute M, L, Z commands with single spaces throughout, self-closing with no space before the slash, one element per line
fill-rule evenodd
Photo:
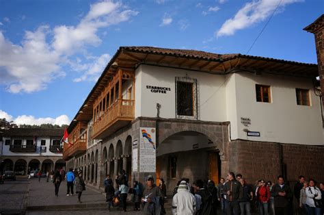
<path fill-rule="evenodd" d="M 78 77 L 73 81 L 96 81 L 107 66 L 107 63 L 109 62 L 110 58 L 110 55 L 106 53 L 97 58 L 93 63 L 82 65 L 83 68 L 81 69 L 85 71 L 85 73 L 81 77 Z"/>

